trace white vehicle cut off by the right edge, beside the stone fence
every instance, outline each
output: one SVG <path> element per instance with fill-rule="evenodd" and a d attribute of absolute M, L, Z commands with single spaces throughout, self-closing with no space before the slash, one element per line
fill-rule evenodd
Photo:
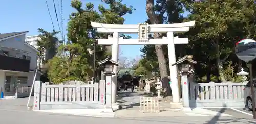
<path fill-rule="evenodd" d="M 254 94 L 256 96 L 256 81 L 253 81 L 254 84 Z M 256 98 L 254 98 L 256 103 Z M 251 96 L 251 83 L 250 81 L 245 85 L 244 88 L 244 104 L 248 107 L 249 110 L 252 111 L 252 96 Z"/>

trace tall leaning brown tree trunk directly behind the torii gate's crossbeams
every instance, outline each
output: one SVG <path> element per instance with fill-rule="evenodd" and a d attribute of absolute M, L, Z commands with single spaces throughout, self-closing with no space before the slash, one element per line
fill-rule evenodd
<path fill-rule="evenodd" d="M 162 24 L 158 19 L 157 16 L 155 15 L 154 12 L 154 0 L 146 0 L 146 13 L 148 18 L 150 19 L 151 24 Z M 161 34 L 155 33 L 154 34 L 154 39 L 160 38 Z M 160 76 L 161 76 L 161 81 L 162 81 L 162 89 L 163 93 L 165 96 L 170 96 L 172 95 L 171 88 L 169 85 L 169 79 L 168 79 L 168 73 L 166 69 L 166 61 L 162 49 L 162 45 L 155 45 L 156 49 L 156 54 L 157 54 L 157 59 L 158 59 L 158 64 L 159 64 L 159 71 L 160 71 Z"/>

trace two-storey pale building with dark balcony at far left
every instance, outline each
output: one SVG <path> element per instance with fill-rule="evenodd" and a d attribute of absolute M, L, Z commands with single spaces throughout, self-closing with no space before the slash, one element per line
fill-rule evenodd
<path fill-rule="evenodd" d="M 0 89 L 4 92 L 15 92 L 17 85 L 33 83 L 39 51 L 25 42 L 26 33 L 0 34 Z M 36 80 L 40 80 L 39 74 Z"/>

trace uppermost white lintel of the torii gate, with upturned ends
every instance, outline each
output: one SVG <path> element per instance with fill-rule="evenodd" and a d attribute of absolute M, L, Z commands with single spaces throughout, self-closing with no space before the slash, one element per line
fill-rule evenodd
<path fill-rule="evenodd" d="M 135 34 L 138 33 L 138 24 L 103 24 L 92 22 L 92 27 L 97 29 L 99 33 L 125 33 Z M 149 24 L 149 33 L 166 33 L 166 32 L 187 32 L 189 27 L 195 25 L 195 21 L 172 23 L 172 24 Z"/>

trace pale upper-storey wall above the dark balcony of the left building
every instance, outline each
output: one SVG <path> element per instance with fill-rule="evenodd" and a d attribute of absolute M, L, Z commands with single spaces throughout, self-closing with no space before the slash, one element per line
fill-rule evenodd
<path fill-rule="evenodd" d="M 0 41 L 0 46 L 16 48 L 16 49 L 29 52 L 28 56 L 31 57 L 29 69 L 34 70 L 36 68 L 37 52 L 31 47 L 27 46 L 24 42 L 25 42 L 25 34 L 21 36 L 17 36 L 15 38 L 9 38 L 7 40 Z M 23 55 L 27 55 L 26 53 L 16 52 L 16 51 L 4 49 L 4 48 L 2 49 L 9 51 L 10 56 L 17 55 L 18 57 L 22 57 Z"/>

